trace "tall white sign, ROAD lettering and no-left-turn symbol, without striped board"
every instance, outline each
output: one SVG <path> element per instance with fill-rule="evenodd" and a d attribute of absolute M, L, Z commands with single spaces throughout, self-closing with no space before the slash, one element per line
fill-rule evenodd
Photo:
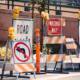
<path fill-rule="evenodd" d="M 13 20 L 15 40 L 13 41 L 13 60 L 15 63 L 32 62 L 33 20 Z"/>

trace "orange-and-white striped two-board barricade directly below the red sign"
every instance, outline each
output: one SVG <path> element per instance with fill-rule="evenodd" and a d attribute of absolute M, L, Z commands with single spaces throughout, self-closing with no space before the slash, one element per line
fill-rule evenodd
<path fill-rule="evenodd" d="M 48 53 L 46 57 L 46 64 L 50 62 L 55 62 L 55 67 L 54 67 L 55 70 L 57 63 L 61 62 L 61 64 L 63 64 L 62 62 L 66 58 L 65 55 L 66 51 L 64 49 L 65 36 L 44 37 L 44 44 L 46 45 Z M 54 51 L 51 52 L 50 48 L 54 48 Z"/>

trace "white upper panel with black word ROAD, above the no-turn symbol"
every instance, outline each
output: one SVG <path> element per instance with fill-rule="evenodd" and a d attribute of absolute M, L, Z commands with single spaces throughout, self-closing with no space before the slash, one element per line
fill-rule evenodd
<path fill-rule="evenodd" d="M 33 20 L 32 19 L 14 19 L 13 27 L 15 29 L 15 40 L 28 40 L 32 44 L 33 38 Z"/>

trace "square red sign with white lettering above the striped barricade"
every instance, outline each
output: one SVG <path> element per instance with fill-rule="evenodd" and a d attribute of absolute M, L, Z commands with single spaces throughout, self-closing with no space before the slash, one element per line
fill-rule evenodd
<path fill-rule="evenodd" d="M 61 18 L 52 18 L 47 21 L 47 34 L 48 35 L 61 35 L 63 22 Z"/>

